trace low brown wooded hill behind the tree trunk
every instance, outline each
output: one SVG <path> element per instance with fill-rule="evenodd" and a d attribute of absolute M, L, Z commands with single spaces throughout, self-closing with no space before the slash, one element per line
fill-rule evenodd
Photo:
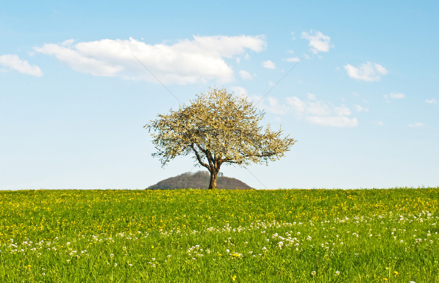
<path fill-rule="evenodd" d="M 220 175 L 221 174 L 221 175 Z M 173 190 L 173 189 L 207 189 L 209 188 L 210 173 L 207 171 L 198 171 L 196 173 L 186 172 L 175 177 L 170 177 L 159 183 L 148 187 L 148 190 Z M 235 178 L 225 177 L 218 173 L 216 178 L 216 188 L 231 190 L 248 190 L 252 189 L 246 183 Z"/>

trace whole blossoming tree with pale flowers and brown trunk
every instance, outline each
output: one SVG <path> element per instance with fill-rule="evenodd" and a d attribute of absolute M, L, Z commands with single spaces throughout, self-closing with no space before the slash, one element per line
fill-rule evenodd
<path fill-rule="evenodd" d="M 210 172 L 209 189 L 216 188 L 216 176 L 222 164 L 246 166 L 268 163 L 284 156 L 296 141 L 281 137 L 283 132 L 262 127 L 264 117 L 245 96 L 235 96 L 225 88 L 211 88 L 197 94 L 190 105 L 170 109 L 150 121 L 148 128 L 164 166 L 177 156 L 192 155 Z"/>

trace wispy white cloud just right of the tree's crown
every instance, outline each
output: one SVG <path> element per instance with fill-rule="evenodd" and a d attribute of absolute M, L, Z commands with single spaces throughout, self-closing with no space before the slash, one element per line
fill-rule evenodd
<path fill-rule="evenodd" d="M 264 100 L 263 100 L 264 101 Z M 308 93 L 307 100 L 296 96 L 286 97 L 285 102 L 274 97 L 266 99 L 268 104 L 260 104 L 266 111 L 275 114 L 292 113 L 299 119 L 305 119 L 312 124 L 335 127 L 352 127 L 358 125 L 357 118 L 350 118 L 351 111 L 346 106 L 333 106 L 323 100 L 317 100 L 315 95 Z"/>

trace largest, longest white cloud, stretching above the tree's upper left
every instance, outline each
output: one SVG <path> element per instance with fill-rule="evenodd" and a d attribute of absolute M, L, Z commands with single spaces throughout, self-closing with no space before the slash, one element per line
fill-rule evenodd
<path fill-rule="evenodd" d="M 72 69 L 97 76 L 120 76 L 126 79 L 156 79 L 137 61 L 136 56 L 162 83 L 188 84 L 216 80 L 233 80 L 233 70 L 224 58 L 245 55 L 246 50 L 260 52 L 266 46 L 263 36 L 194 36 L 175 44 L 146 44 L 129 40 L 102 39 L 34 47 L 37 52 L 53 55 Z M 133 56 L 134 55 L 134 56 Z"/>

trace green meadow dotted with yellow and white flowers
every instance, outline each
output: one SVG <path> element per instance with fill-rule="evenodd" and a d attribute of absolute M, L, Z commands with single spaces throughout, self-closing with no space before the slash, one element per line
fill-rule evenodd
<path fill-rule="evenodd" d="M 1 282 L 439 282 L 439 188 L 0 191 Z"/>

